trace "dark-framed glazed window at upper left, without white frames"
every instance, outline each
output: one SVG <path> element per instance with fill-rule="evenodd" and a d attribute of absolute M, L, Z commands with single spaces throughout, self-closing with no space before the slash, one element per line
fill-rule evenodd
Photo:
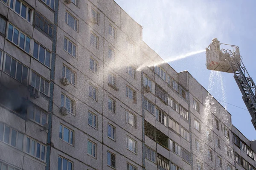
<path fill-rule="evenodd" d="M 45 18 L 44 15 L 39 14 L 38 11 L 35 12 L 34 24 L 42 31 L 44 31 L 47 35 L 52 37 L 53 23 L 47 20 L 47 18 Z"/>

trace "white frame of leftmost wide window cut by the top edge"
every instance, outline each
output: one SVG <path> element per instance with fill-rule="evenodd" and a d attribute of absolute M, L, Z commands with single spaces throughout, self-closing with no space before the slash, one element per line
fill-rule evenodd
<path fill-rule="evenodd" d="M 7 1 L 9 1 L 9 2 L 8 2 L 8 6 L 9 6 L 9 8 L 10 8 L 12 11 L 14 11 L 16 14 L 18 14 L 20 17 L 22 17 L 24 20 L 26 20 L 26 22 L 28 22 L 28 23 L 30 23 L 30 24 L 33 23 L 34 10 L 33 10 L 32 8 L 30 8 L 29 5 L 27 5 L 26 3 L 24 3 L 22 0 L 19 0 L 19 1 L 20 1 L 20 14 L 19 14 L 19 13 L 17 13 L 17 12 L 15 11 L 15 5 L 16 5 L 16 1 L 17 1 L 17 0 L 13 0 L 13 8 L 11 7 L 11 0 L 7 0 Z M 24 18 L 23 16 L 21 16 L 22 5 L 26 6 L 26 18 Z M 31 14 L 30 14 L 30 21 L 28 20 L 29 9 L 30 9 L 30 12 L 31 12 Z"/>

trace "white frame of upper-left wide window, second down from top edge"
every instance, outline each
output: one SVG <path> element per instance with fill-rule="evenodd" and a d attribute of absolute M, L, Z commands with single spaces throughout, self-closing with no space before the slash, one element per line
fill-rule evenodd
<path fill-rule="evenodd" d="M 11 25 L 13 27 L 12 29 L 12 40 L 9 40 L 9 25 Z M 22 49 L 23 51 L 25 51 L 27 54 L 30 55 L 30 51 L 31 51 L 31 44 L 32 44 L 32 38 L 30 38 L 29 36 L 27 36 L 25 33 L 23 33 L 22 31 L 20 31 L 20 29 L 18 29 L 17 27 L 15 27 L 14 25 L 12 25 L 11 23 L 7 24 L 7 34 L 6 34 L 6 40 L 9 40 L 12 42 L 12 44 L 16 45 L 18 48 Z M 15 44 L 15 42 L 13 42 L 13 38 L 14 38 L 14 30 L 17 30 L 18 33 L 18 44 Z M 24 35 L 24 49 L 20 47 L 20 34 Z M 29 51 L 26 51 L 26 39 L 29 38 Z"/>

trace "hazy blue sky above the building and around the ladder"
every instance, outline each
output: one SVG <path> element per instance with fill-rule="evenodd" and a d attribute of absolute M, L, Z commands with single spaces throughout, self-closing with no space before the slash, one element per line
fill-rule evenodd
<path fill-rule="evenodd" d="M 163 59 L 203 50 L 218 38 L 222 43 L 238 45 L 250 77 L 256 81 L 256 1 L 254 0 L 115 0 L 137 23 L 143 26 L 143 40 Z M 205 53 L 169 64 L 177 71 L 190 74 L 208 90 L 209 75 Z M 225 94 L 217 78 L 212 95 L 219 100 L 247 109 L 233 74 L 221 73 Z M 227 106 L 232 123 L 249 140 L 256 130 L 248 111 L 219 101 Z"/>

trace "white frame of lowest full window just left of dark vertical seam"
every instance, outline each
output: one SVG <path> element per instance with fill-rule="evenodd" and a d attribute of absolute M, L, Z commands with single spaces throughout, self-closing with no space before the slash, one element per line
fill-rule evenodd
<path fill-rule="evenodd" d="M 29 140 L 28 140 L 29 139 Z M 28 141 L 29 141 L 29 150 L 28 150 Z M 35 143 L 35 146 L 33 148 L 34 150 L 34 154 L 32 153 L 32 141 Z M 37 153 L 38 153 L 38 144 L 40 144 L 40 150 L 39 150 L 39 158 L 37 156 Z M 43 151 L 43 148 L 44 148 L 44 159 L 42 158 L 42 151 Z M 29 151 L 29 152 L 28 152 Z M 35 139 L 32 139 L 30 138 L 29 136 L 26 136 L 26 150 L 25 150 L 26 153 L 28 153 L 29 155 L 37 158 L 37 159 L 40 159 L 42 161 L 46 161 L 46 152 L 47 152 L 47 147 L 46 145 L 44 144 L 41 144 L 40 142 L 36 141 Z"/>

